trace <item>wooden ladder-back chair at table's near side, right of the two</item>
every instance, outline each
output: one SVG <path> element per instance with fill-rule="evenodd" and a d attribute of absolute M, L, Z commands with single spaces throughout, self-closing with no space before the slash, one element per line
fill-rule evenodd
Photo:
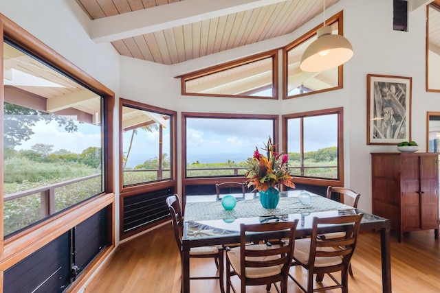
<path fill-rule="evenodd" d="M 301 290 L 311 293 L 341 288 L 342 293 L 348 292 L 349 264 L 355 251 L 362 216 L 363 214 L 360 213 L 332 218 L 315 217 L 311 237 L 295 240 L 292 266 L 302 266 L 307 270 L 307 285 L 301 285 L 300 281 L 296 280 L 292 274 L 289 274 L 289 277 Z M 322 237 L 322 229 L 328 229 L 329 225 L 336 225 L 340 231 L 344 231 L 344 237 L 336 239 Z M 334 272 L 340 272 L 339 280 L 333 276 Z M 317 276 L 317 282 L 322 282 L 324 275 L 327 274 L 333 280 L 333 285 L 314 288 L 314 274 Z"/>

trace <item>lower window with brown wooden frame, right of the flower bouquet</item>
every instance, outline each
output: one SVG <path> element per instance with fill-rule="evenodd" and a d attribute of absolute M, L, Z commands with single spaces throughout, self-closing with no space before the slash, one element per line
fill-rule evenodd
<path fill-rule="evenodd" d="M 284 115 L 283 131 L 295 182 L 342 183 L 342 108 Z"/>

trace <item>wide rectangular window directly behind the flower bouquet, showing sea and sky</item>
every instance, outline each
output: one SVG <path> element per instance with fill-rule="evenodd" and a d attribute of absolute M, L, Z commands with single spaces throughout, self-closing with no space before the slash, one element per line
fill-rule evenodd
<path fill-rule="evenodd" d="M 186 178 L 243 176 L 242 162 L 270 136 L 277 141 L 277 115 L 183 113 Z"/>

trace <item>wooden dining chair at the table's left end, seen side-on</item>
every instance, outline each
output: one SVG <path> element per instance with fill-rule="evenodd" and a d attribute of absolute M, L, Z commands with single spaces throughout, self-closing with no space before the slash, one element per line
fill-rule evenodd
<path fill-rule="evenodd" d="M 184 232 L 184 219 L 181 215 L 180 202 L 177 194 L 173 196 L 168 196 L 166 198 L 166 204 L 170 210 L 171 219 L 173 222 L 174 235 L 179 247 L 179 251 L 182 251 L 181 238 Z M 217 270 L 219 271 L 218 276 L 212 277 L 190 277 L 190 280 L 206 280 L 206 279 L 217 279 L 220 283 L 220 291 L 224 293 L 224 277 L 223 277 L 223 246 L 203 246 L 195 247 L 190 249 L 190 259 L 191 258 L 213 258 Z"/>

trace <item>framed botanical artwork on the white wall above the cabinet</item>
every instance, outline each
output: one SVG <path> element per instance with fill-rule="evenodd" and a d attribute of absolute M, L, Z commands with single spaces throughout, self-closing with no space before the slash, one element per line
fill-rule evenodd
<path fill-rule="evenodd" d="M 367 144 L 410 141 L 411 85 L 412 78 L 367 75 Z"/>

